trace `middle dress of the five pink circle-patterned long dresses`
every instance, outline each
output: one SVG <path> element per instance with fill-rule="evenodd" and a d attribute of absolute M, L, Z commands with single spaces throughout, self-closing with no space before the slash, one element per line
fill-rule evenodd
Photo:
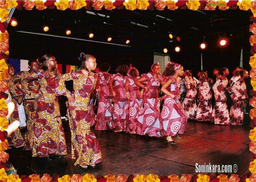
<path fill-rule="evenodd" d="M 137 127 L 137 118 L 140 109 L 142 108 L 142 95 L 140 89 L 134 83 L 132 76 L 126 76 L 126 79 L 129 80 L 129 129 L 130 131 L 136 131 Z"/>

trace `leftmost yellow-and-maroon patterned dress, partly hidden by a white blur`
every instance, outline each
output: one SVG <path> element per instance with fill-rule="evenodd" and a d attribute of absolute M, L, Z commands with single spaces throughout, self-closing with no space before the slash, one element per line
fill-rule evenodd
<path fill-rule="evenodd" d="M 5 80 L 8 84 L 8 92 L 12 97 L 12 102 L 14 103 L 14 112 L 9 117 L 9 123 L 15 120 L 19 120 L 18 104 L 22 103 L 22 91 L 14 84 L 15 76 L 9 80 Z M 14 147 L 24 146 L 24 139 L 20 133 L 20 129 L 17 128 L 8 138 L 8 143 L 14 145 Z"/>

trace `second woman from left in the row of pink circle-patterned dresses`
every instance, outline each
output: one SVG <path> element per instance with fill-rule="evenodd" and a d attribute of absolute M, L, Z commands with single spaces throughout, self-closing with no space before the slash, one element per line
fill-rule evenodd
<path fill-rule="evenodd" d="M 129 67 L 127 65 L 119 65 L 116 68 L 116 74 L 111 76 L 109 81 L 109 87 L 115 99 L 113 105 L 113 119 L 116 125 L 115 132 L 129 132 L 129 108 L 125 91 L 125 76 L 127 75 L 128 69 Z"/>

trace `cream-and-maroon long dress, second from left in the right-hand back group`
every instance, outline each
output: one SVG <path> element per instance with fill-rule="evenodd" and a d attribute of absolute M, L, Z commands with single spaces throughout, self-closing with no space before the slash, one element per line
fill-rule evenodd
<path fill-rule="evenodd" d="M 211 107 L 212 92 L 209 83 L 205 80 L 200 82 L 198 88 L 198 107 L 196 111 L 197 121 L 212 121 L 212 107 Z"/>

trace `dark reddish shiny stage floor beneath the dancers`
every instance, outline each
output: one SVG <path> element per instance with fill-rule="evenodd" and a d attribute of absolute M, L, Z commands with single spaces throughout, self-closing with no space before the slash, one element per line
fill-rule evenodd
<path fill-rule="evenodd" d="M 88 169 L 74 166 L 71 159 L 71 143 L 68 121 L 62 121 L 66 133 L 68 155 L 62 159 L 43 161 L 32 158 L 30 151 L 8 149 L 10 161 L 18 174 L 198 174 L 198 164 L 237 164 L 238 172 L 248 174 L 250 160 L 249 131 L 247 126 L 223 126 L 211 123 L 188 121 L 182 139 L 174 139 L 177 144 L 169 144 L 165 138 L 140 136 L 113 131 L 95 132 L 100 143 L 103 162 Z M 202 173 L 202 172 L 201 172 Z"/>

